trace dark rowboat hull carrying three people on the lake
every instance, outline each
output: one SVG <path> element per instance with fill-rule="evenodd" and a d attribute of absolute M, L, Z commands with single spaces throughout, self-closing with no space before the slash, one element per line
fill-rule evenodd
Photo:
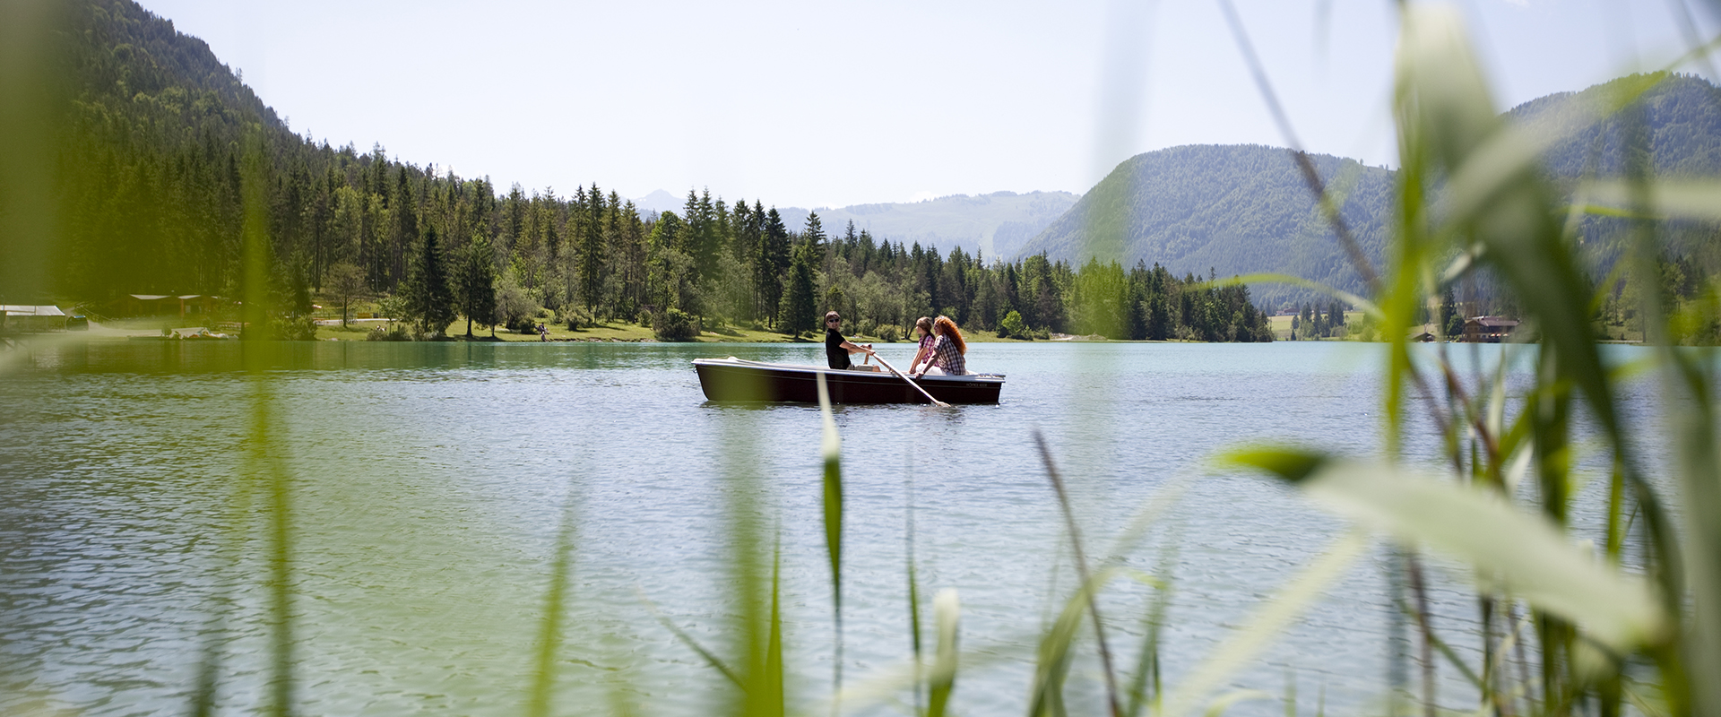
<path fill-rule="evenodd" d="M 819 402 L 817 377 L 836 404 L 924 404 L 926 395 L 890 371 L 842 370 L 793 363 L 747 361 L 735 356 L 694 359 L 707 401 Z M 947 404 L 995 404 L 1002 373 L 921 377 L 914 380 Z"/>

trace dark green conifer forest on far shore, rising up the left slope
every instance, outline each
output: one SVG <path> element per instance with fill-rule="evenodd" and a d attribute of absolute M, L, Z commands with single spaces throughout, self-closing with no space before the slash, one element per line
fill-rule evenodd
<path fill-rule="evenodd" d="M 852 222 L 828 229 L 817 213 L 788 227 L 762 198 L 692 189 L 682 211 L 642 217 L 597 182 L 503 191 L 380 144 L 334 148 L 296 134 L 205 43 L 136 3 L 65 12 L 76 96 L 55 122 L 48 291 L 96 313 L 124 294 L 244 296 L 241 237 L 256 211 L 277 337 L 308 335 L 317 299 L 368 297 L 425 337 L 458 318 L 466 334 L 668 320 L 793 335 L 836 309 L 883 339 L 943 313 L 1022 339 L 1270 340 L 1248 287 L 1212 273 L 945 254 Z"/>

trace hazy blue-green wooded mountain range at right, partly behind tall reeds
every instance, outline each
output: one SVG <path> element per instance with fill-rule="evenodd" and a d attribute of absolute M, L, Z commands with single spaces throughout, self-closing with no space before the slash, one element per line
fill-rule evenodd
<path fill-rule="evenodd" d="M 1535 134 L 1568 134 L 1547 151 L 1544 169 L 1556 186 L 1571 191 L 1592 170 L 1623 172 L 1628 115 L 1599 120 L 1619 93 L 1659 84 L 1644 93 L 1642 120 L 1662 177 L 1721 177 L 1721 89 L 1693 76 L 1632 76 L 1576 93 L 1547 95 L 1506 113 Z M 1342 213 L 1363 253 L 1377 267 L 1387 241 L 1394 172 L 1354 160 L 1311 155 L 1322 179 L 1342 199 Z M 1625 222 L 1587 217 L 1583 236 L 1595 273 L 1604 275 L 1619 254 Z M 1668 248 L 1680 254 L 1716 254 L 1706 227 L 1668 227 Z M 1360 292 L 1351 268 L 1296 163 L 1274 146 L 1177 146 L 1136 155 L 1088 191 L 1057 222 L 1014 254 L 1046 253 L 1052 260 L 1083 261 L 1108 256 L 1134 265 L 1158 261 L 1174 273 L 1241 275 L 1292 273 Z M 1315 294 L 1279 284 L 1253 289 L 1275 306 Z"/>

